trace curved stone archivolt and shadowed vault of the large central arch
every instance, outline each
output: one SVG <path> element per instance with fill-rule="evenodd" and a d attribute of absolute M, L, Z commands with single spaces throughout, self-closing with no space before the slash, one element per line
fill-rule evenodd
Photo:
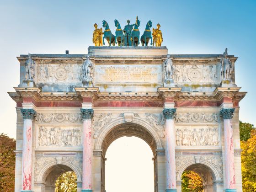
<path fill-rule="evenodd" d="M 146 121 L 134 118 L 131 122 L 117 119 L 107 124 L 99 133 L 95 142 L 95 150 L 102 150 L 106 154 L 109 145 L 116 139 L 123 136 L 135 136 L 143 139 L 155 154 L 156 149 L 164 149 L 158 132 Z"/>

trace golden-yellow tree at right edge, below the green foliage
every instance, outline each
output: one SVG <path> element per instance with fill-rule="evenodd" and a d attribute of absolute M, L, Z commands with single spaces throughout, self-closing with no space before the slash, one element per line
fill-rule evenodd
<path fill-rule="evenodd" d="M 243 192 L 256 192 L 256 130 L 252 129 L 250 135 L 247 141 L 241 141 Z"/>

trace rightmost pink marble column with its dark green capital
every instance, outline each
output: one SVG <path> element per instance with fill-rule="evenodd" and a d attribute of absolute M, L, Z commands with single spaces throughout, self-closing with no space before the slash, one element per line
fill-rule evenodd
<path fill-rule="evenodd" d="M 226 191 L 235 192 L 235 160 L 233 144 L 233 128 L 231 119 L 235 109 L 221 109 L 220 117 L 224 123 L 224 147 L 225 147 L 225 181 Z"/>

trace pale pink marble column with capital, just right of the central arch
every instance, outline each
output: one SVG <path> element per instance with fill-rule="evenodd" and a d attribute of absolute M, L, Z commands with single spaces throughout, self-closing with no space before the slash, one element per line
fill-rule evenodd
<path fill-rule="evenodd" d="M 164 109 L 165 116 L 165 162 L 166 162 L 166 192 L 176 192 L 175 164 L 175 128 L 173 118 L 176 109 Z"/>

